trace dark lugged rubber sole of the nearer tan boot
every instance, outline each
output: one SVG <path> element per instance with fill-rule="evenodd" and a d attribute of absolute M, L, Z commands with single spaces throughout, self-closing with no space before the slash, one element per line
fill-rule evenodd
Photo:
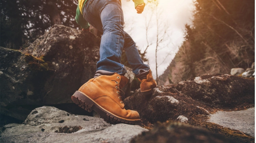
<path fill-rule="evenodd" d="M 94 102 L 89 96 L 84 94 L 83 92 L 76 91 L 71 96 L 72 101 L 77 104 L 79 107 L 83 108 L 84 110 L 91 112 L 97 112 L 105 122 L 110 124 L 118 124 L 118 123 L 125 123 L 125 124 L 139 124 L 141 122 L 140 119 L 125 119 L 121 118 L 113 113 L 109 112 L 105 108 L 101 107 L 99 104 Z"/>

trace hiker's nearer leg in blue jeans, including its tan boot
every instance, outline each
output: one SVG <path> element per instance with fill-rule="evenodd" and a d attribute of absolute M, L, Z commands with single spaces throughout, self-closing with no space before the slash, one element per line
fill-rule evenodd
<path fill-rule="evenodd" d="M 140 122 L 139 113 L 125 110 L 121 88 L 129 81 L 120 63 L 124 45 L 123 11 L 119 0 L 88 0 L 83 9 L 84 18 L 103 35 L 100 60 L 94 78 L 72 95 L 73 102 L 84 110 L 96 111 L 105 121 L 135 124 Z"/>

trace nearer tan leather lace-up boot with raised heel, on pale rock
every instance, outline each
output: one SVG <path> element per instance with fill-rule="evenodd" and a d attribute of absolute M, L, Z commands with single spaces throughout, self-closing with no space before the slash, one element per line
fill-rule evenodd
<path fill-rule="evenodd" d="M 127 82 L 128 79 L 125 76 L 117 73 L 99 76 L 95 74 L 95 78 L 81 86 L 71 99 L 88 112 L 96 111 L 106 122 L 112 124 L 139 123 L 139 113 L 125 110 L 121 99 L 120 88 L 124 87 Z"/>

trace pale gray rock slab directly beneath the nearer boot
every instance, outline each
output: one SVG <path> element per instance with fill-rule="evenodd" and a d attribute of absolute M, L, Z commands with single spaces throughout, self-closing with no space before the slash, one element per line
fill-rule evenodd
<path fill-rule="evenodd" d="M 25 124 L 1 128 L 1 143 L 129 143 L 147 129 L 138 125 L 110 125 L 100 118 L 72 115 L 54 107 L 33 110 Z M 68 134 L 72 133 L 72 134 Z"/>

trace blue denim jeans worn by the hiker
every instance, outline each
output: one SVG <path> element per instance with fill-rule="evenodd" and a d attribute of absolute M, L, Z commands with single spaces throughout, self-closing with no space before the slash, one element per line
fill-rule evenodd
<path fill-rule="evenodd" d="M 134 74 L 138 75 L 140 69 L 149 69 L 148 65 L 143 64 L 135 42 L 124 31 L 124 16 L 119 0 L 87 0 L 83 16 L 93 27 L 103 32 L 97 71 L 125 74 L 126 69 L 121 64 L 123 50 Z"/>

